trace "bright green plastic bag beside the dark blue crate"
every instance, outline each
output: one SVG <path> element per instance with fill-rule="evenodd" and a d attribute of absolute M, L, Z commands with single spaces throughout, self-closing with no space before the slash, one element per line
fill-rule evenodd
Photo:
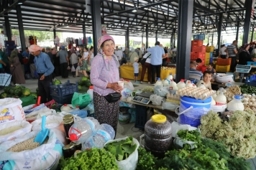
<path fill-rule="evenodd" d="M 91 103 L 91 97 L 88 93 L 74 93 L 73 98 L 71 101 L 73 107 L 76 107 L 76 105 L 79 106 L 79 108 L 83 109 L 86 108 L 86 106 Z"/>

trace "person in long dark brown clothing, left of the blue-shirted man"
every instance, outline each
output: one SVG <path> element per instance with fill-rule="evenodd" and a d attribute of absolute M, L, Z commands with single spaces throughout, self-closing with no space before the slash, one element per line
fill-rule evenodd
<path fill-rule="evenodd" d="M 22 70 L 22 65 L 19 62 L 18 50 L 13 50 L 11 52 L 10 70 L 11 70 L 14 85 L 26 83 L 25 77 L 24 77 L 24 72 Z"/>

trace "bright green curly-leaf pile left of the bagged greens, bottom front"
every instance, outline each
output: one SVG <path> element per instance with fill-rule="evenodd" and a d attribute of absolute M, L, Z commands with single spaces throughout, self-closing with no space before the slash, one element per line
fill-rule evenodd
<path fill-rule="evenodd" d="M 118 170 L 115 157 L 104 148 L 91 148 L 68 159 L 60 159 L 62 170 Z"/>

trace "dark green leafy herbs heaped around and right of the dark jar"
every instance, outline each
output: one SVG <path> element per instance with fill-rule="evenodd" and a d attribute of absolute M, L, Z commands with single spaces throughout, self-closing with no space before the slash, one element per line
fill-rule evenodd
<path fill-rule="evenodd" d="M 179 131 L 179 137 L 184 141 L 198 142 L 198 148 L 190 149 L 186 146 L 182 149 L 173 149 L 165 153 L 163 159 L 156 159 L 144 148 L 139 148 L 139 169 L 197 169 L 197 170 L 250 170 L 250 163 L 242 158 L 232 156 L 223 143 L 208 138 L 201 138 L 198 131 Z"/>

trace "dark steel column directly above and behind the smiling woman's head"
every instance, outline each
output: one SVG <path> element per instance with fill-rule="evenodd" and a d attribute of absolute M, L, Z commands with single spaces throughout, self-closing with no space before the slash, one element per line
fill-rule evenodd
<path fill-rule="evenodd" d="M 101 37 L 101 0 L 91 0 L 91 19 L 93 25 L 93 49 L 96 54 L 98 40 Z"/>

